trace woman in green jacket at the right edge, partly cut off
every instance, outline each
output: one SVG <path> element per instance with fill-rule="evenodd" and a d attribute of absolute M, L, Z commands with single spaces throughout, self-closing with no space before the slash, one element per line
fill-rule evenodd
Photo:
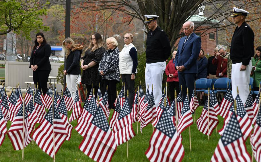
<path fill-rule="evenodd" d="M 259 90 L 259 84 L 261 82 L 261 46 L 256 48 L 256 54 L 254 58 L 252 59 L 252 70 L 253 70 L 253 75 L 250 77 L 254 78 L 254 90 L 258 91 Z M 252 72 L 251 72 L 252 73 Z"/>

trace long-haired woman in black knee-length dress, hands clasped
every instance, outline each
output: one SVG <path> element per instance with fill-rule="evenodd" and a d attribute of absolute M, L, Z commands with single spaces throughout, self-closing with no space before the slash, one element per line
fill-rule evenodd
<path fill-rule="evenodd" d="M 85 50 L 84 56 L 81 58 L 81 68 L 83 69 L 81 83 L 86 84 L 88 91 L 87 96 L 89 96 L 91 84 L 93 84 L 95 98 L 97 97 L 99 83 L 102 84 L 102 76 L 100 75 L 98 68 L 104 52 L 105 48 L 102 36 L 99 33 L 95 33 L 91 36 L 91 43 Z"/>

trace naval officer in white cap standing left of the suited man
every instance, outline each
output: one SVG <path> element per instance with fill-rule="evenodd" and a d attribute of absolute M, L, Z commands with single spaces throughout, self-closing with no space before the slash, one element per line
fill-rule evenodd
<path fill-rule="evenodd" d="M 166 68 L 166 59 L 170 57 L 171 47 L 170 41 L 167 34 L 158 27 L 157 25 L 157 15 L 144 15 L 145 22 L 149 28 L 146 41 L 146 68 L 145 68 L 145 82 L 146 89 L 149 84 L 149 93 L 152 91 L 153 84 L 153 94 L 155 105 L 159 104 L 162 93 L 162 79 L 163 73 Z"/>

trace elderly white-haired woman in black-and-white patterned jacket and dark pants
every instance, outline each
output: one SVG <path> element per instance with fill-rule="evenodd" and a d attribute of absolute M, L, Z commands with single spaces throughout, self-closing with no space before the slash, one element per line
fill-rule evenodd
<path fill-rule="evenodd" d="M 118 42 L 115 38 L 110 37 L 106 39 L 107 49 L 104 52 L 103 58 L 99 64 L 99 72 L 102 75 L 104 86 L 108 85 L 108 102 L 109 109 L 114 109 L 114 101 L 116 100 L 116 84 L 120 82 L 119 69 L 119 53 L 117 47 Z"/>

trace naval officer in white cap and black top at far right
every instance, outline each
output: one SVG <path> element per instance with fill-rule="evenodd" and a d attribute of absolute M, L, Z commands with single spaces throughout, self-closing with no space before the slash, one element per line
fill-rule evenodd
<path fill-rule="evenodd" d="M 232 61 L 232 95 L 237 96 L 237 87 L 239 96 L 245 104 L 249 94 L 250 72 L 252 70 L 251 58 L 254 56 L 254 32 L 245 22 L 248 11 L 233 8 L 233 21 L 237 25 L 230 47 L 230 58 Z"/>

